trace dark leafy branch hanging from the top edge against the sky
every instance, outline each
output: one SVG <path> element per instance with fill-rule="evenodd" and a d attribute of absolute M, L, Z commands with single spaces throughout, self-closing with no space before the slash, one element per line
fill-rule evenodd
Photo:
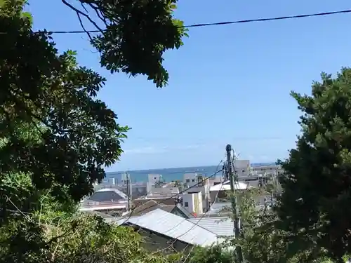
<path fill-rule="evenodd" d="M 131 76 L 146 75 L 157 87 L 165 86 L 168 72 L 163 67 L 164 52 L 180 48 L 187 36 L 183 21 L 173 18 L 176 0 L 105 1 L 79 0 L 84 10 L 64 4 L 76 11 L 79 20 L 86 18 L 100 32 L 88 33 L 91 43 L 100 52 L 102 67 L 110 72 L 124 72 Z M 98 21 L 86 11 L 93 9 Z M 84 24 L 81 22 L 82 27 Z M 100 26 L 103 25 L 103 26 Z"/>

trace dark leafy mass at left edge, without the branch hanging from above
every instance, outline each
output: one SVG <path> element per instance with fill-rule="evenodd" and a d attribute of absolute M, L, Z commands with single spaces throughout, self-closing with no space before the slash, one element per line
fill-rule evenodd
<path fill-rule="evenodd" d="M 24 4 L 24 3 L 22 3 Z M 119 159 L 128 127 L 96 95 L 105 79 L 58 54 L 46 32 L 33 33 L 22 6 L 0 13 L 0 149 L 2 174 L 30 175 L 38 190 L 79 201 Z M 35 140 L 20 135 L 19 127 Z M 63 192 L 63 193 L 62 193 Z"/>

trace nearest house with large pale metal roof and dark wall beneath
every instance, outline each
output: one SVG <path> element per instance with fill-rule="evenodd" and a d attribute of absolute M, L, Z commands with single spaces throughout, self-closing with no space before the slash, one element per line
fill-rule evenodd
<path fill-rule="evenodd" d="M 145 245 L 150 250 L 186 251 L 194 245 L 206 247 L 224 241 L 213 231 L 160 208 L 139 217 L 116 220 L 114 223 L 138 230 L 148 241 Z"/>

